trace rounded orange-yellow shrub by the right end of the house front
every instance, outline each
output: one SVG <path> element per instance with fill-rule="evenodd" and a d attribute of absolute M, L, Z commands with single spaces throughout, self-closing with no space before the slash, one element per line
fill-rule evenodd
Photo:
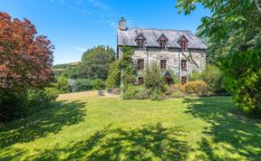
<path fill-rule="evenodd" d="M 208 85 L 205 81 L 189 81 L 184 85 L 185 92 L 188 94 L 196 94 L 198 96 L 208 95 Z"/>

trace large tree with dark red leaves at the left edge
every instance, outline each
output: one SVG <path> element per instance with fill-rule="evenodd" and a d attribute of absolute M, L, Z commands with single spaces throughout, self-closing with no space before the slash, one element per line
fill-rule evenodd
<path fill-rule="evenodd" d="M 0 90 L 42 88 L 53 76 L 53 45 L 27 19 L 0 12 Z"/>

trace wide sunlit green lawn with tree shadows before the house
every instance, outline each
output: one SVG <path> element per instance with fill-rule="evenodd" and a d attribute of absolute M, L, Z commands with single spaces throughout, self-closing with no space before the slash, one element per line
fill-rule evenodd
<path fill-rule="evenodd" d="M 1 128 L 0 160 L 260 160 L 261 121 L 229 97 L 163 101 L 62 95 Z"/>

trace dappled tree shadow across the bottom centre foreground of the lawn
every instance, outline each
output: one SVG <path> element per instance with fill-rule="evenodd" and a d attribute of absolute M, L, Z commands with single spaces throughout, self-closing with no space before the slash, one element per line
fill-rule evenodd
<path fill-rule="evenodd" d="M 163 128 L 160 124 L 123 130 L 104 128 L 84 141 L 69 147 L 45 150 L 36 160 L 186 160 L 189 147 L 178 137 L 185 135 L 179 128 Z"/>

